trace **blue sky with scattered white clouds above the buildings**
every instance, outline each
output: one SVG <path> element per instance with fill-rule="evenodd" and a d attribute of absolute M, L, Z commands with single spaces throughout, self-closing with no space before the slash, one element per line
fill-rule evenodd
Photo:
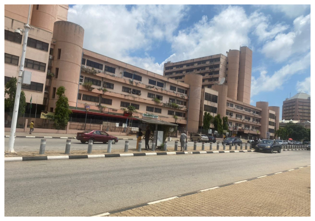
<path fill-rule="evenodd" d="M 163 75 L 163 64 L 252 49 L 251 105 L 311 95 L 310 5 L 69 5 L 85 49 Z"/>

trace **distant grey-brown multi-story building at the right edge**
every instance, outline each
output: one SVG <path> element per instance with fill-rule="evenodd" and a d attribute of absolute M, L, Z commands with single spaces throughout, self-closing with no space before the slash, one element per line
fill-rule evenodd
<path fill-rule="evenodd" d="M 282 106 L 282 119 L 311 121 L 311 96 L 301 92 L 285 99 Z"/>

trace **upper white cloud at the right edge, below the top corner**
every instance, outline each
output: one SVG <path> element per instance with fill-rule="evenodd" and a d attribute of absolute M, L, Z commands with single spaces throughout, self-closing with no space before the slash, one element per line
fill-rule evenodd
<path fill-rule="evenodd" d="M 276 62 L 282 62 L 293 54 L 307 52 L 311 48 L 311 15 L 300 16 L 293 21 L 293 30 L 279 33 L 262 47 L 261 52 Z"/>

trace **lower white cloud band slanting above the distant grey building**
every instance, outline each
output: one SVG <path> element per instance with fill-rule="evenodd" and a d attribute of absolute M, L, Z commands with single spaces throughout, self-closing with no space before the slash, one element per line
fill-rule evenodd
<path fill-rule="evenodd" d="M 252 76 L 251 97 L 265 91 L 275 91 L 286 83 L 296 73 L 301 73 L 311 65 L 311 53 L 301 59 L 283 66 L 273 75 L 267 75 L 267 71 L 260 72 L 258 78 Z"/>

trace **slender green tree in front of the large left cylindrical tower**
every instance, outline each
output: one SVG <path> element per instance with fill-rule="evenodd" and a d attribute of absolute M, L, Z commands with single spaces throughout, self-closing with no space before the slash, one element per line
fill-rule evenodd
<path fill-rule="evenodd" d="M 57 89 L 58 100 L 56 102 L 54 121 L 57 129 L 63 130 L 69 121 L 69 114 L 72 112 L 69 109 L 68 98 L 64 95 L 65 88 L 60 86 Z"/>

